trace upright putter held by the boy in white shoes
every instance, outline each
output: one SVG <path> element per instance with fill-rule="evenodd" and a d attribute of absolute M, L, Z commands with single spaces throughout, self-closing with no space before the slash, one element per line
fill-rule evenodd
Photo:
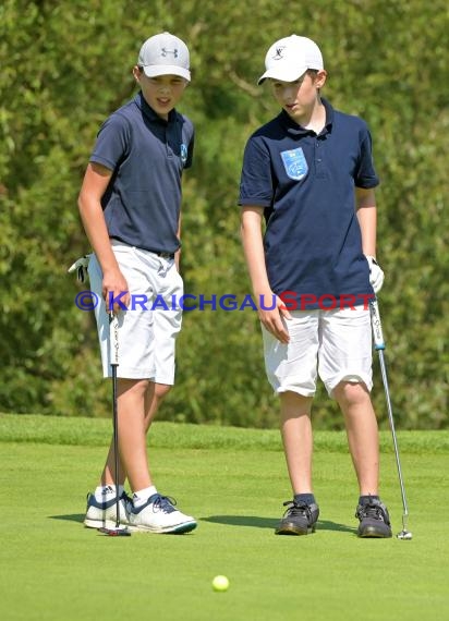
<path fill-rule="evenodd" d="M 112 370 L 112 423 L 113 423 L 113 452 L 114 452 L 114 483 L 116 483 L 116 527 L 98 528 L 109 537 L 129 537 L 130 531 L 120 525 L 120 495 L 119 495 L 119 421 L 117 415 L 117 367 L 119 366 L 119 319 L 112 312 L 109 313 L 109 348 Z"/>

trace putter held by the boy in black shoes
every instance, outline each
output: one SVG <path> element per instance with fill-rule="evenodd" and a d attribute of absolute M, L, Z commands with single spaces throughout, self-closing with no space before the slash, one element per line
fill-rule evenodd
<path fill-rule="evenodd" d="M 404 483 L 403 483 L 403 478 L 402 478 L 401 461 L 399 459 L 398 440 L 397 440 L 396 430 L 395 430 L 395 419 L 393 419 L 393 415 L 392 415 L 390 391 L 388 388 L 387 365 L 386 365 L 385 355 L 384 355 L 384 352 L 386 350 L 386 345 L 385 345 L 384 334 L 383 334 L 383 329 L 381 329 L 379 306 L 378 306 L 376 299 L 371 300 L 369 312 L 371 312 L 371 324 L 372 324 L 372 328 L 373 328 L 374 349 L 379 354 L 380 373 L 381 373 L 381 379 L 384 382 L 385 397 L 386 397 L 386 401 L 387 401 L 388 418 L 390 421 L 391 435 L 392 435 L 392 439 L 393 439 L 396 465 L 398 466 L 399 484 L 401 486 L 402 508 L 403 508 L 403 511 L 402 511 L 402 531 L 397 534 L 397 537 L 398 537 L 398 539 L 412 539 L 413 535 L 406 528 L 406 521 L 408 521 L 408 516 L 409 516 L 409 508 L 406 504 L 405 488 L 404 488 Z"/>

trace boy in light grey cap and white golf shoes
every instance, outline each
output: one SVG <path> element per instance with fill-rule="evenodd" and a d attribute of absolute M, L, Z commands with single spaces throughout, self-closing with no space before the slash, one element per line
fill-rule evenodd
<path fill-rule="evenodd" d="M 110 376 L 108 313 L 119 320 L 121 522 L 130 529 L 186 533 L 196 522 L 156 489 L 146 431 L 173 383 L 181 328 L 181 310 L 171 300 L 183 291 L 181 178 L 192 163 L 194 129 L 174 107 L 191 80 L 189 49 L 170 33 L 155 35 L 142 46 L 133 75 L 139 92 L 100 127 L 78 207 L 94 249 L 88 273 L 100 300 L 95 312 L 105 377 Z M 167 304 L 151 309 L 156 296 Z M 132 499 L 123 489 L 126 478 Z M 114 483 L 111 445 L 98 487 L 87 497 L 86 526 L 113 527 Z"/>

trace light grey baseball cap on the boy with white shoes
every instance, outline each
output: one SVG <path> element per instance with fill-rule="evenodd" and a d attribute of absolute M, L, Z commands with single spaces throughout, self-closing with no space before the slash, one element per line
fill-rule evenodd
<path fill-rule="evenodd" d="M 187 46 L 170 33 L 149 37 L 138 52 L 137 64 L 148 77 L 180 75 L 191 81 Z"/>

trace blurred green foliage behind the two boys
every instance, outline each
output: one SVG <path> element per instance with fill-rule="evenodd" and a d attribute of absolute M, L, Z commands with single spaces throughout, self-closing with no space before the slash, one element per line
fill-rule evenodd
<path fill-rule="evenodd" d="M 88 251 L 76 197 L 96 132 L 126 101 L 138 48 L 169 29 L 191 48 L 180 109 L 196 125 L 185 175 L 186 292 L 250 293 L 236 207 L 244 143 L 277 112 L 255 86 L 268 46 L 292 32 L 320 45 L 325 95 L 368 122 L 375 141 L 380 295 L 398 426 L 448 426 L 449 284 L 447 2 L 272 0 L 222 3 L 5 0 L 0 8 L 0 411 L 109 414 L 89 314 L 75 307 L 69 265 Z M 277 425 L 257 318 L 184 314 L 178 385 L 160 417 Z M 374 400 L 387 424 L 377 365 Z M 340 428 L 319 389 L 319 428 Z"/>

